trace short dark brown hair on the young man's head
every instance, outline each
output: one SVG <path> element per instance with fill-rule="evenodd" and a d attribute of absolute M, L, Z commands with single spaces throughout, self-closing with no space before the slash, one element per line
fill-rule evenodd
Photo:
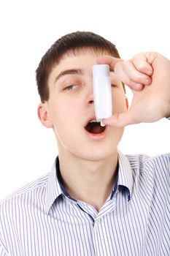
<path fill-rule="evenodd" d="M 91 48 L 94 51 L 100 50 L 109 55 L 120 58 L 115 45 L 104 37 L 88 31 L 77 31 L 58 39 L 47 53 L 42 57 L 39 67 L 36 69 L 36 84 L 42 102 L 49 98 L 47 80 L 54 65 L 57 64 L 64 54 L 81 48 Z"/>

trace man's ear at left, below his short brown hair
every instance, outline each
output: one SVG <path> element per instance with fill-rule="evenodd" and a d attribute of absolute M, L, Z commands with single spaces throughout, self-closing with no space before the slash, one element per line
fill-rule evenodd
<path fill-rule="evenodd" d="M 50 116 L 48 113 L 47 103 L 40 103 L 38 106 L 38 117 L 42 124 L 47 128 L 52 128 L 53 123 L 50 120 Z"/>

